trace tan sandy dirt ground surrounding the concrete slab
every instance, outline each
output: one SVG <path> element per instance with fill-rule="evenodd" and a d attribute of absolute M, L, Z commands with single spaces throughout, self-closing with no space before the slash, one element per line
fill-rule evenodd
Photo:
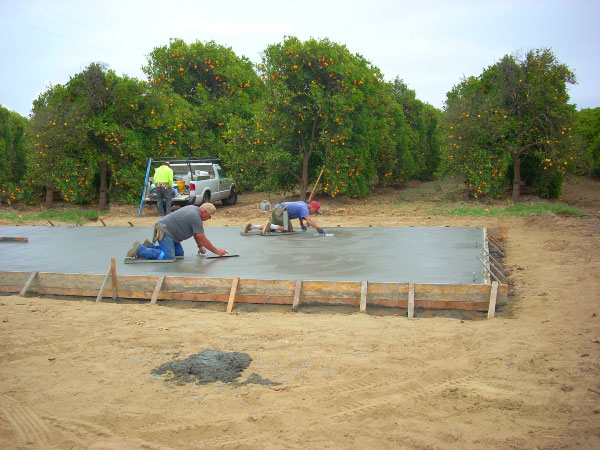
<path fill-rule="evenodd" d="M 323 200 L 324 227 L 503 227 L 510 304 L 492 320 L 0 297 L 3 449 L 598 449 L 600 190 L 584 217 L 443 217 L 382 191 Z M 265 218 L 260 194 L 210 226 Z M 151 225 L 113 207 L 107 226 Z M 102 226 L 95 223 L 91 226 Z M 223 243 L 216 243 L 223 245 Z M 279 385 L 152 374 L 205 349 L 243 352 Z"/>

